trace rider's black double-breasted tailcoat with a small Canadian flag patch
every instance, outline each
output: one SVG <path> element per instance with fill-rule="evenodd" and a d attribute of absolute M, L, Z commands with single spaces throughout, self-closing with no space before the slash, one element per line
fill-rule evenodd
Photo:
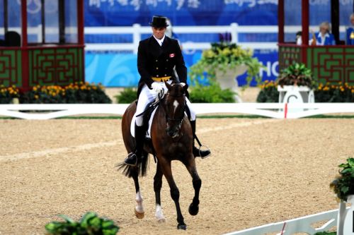
<path fill-rule="evenodd" d="M 137 70 L 140 74 L 137 97 L 139 97 L 144 84 L 152 89 L 151 85 L 154 82 L 152 77 L 171 76 L 173 80 L 176 80 L 173 71 L 175 66 L 179 81 L 187 84 L 187 68 L 177 40 L 165 35 L 161 47 L 153 36 L 140 41 L 137 52 Z"/>

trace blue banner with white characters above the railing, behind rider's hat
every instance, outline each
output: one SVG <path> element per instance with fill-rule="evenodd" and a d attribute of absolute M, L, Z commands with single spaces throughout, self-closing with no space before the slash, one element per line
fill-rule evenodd
<path fill-rule="evenodd" d="M 173 25 L 276 25 L 278 0 L 86 0 L 85 25 L 149 25 L 163 15 Z"/>

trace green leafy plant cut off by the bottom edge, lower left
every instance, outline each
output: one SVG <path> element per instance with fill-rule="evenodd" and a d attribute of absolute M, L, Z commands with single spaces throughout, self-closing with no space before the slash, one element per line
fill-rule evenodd
<path fill-rule="evenodd" d="M 87 212 L 79 222 L 65 216 L 59 215 L 65 222 L 50 222 L 45 225 L 47 234 L 55 235 L 115 235 L 119 227 L 110 219 L 103 219 L 94 212 Z"/>

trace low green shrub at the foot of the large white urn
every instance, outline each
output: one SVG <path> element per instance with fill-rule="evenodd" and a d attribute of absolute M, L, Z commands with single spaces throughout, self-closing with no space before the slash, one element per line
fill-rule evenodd
<path fill-rule="evenodd" d="M 220 85 L 212 83 L 211 85 L 195 85 L 190 90 L 189 100 L 192 103 L 234 103 L 236 95 L 230 89 L 222 90 Z"/>

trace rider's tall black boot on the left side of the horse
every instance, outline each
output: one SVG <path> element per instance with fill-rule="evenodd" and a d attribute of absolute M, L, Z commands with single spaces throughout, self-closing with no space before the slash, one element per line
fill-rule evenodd
<path fill-rule="evenodd" d="M 130 154 L 124 160 L 125 164 L 133 167 L 137 165 L 137 162 L 139 162 L 139 160 L 142 158 L 144 139 L 144 126 L 137 126 L 137 124 L 135 124 L 135 152 L 130 152 Z"/>

